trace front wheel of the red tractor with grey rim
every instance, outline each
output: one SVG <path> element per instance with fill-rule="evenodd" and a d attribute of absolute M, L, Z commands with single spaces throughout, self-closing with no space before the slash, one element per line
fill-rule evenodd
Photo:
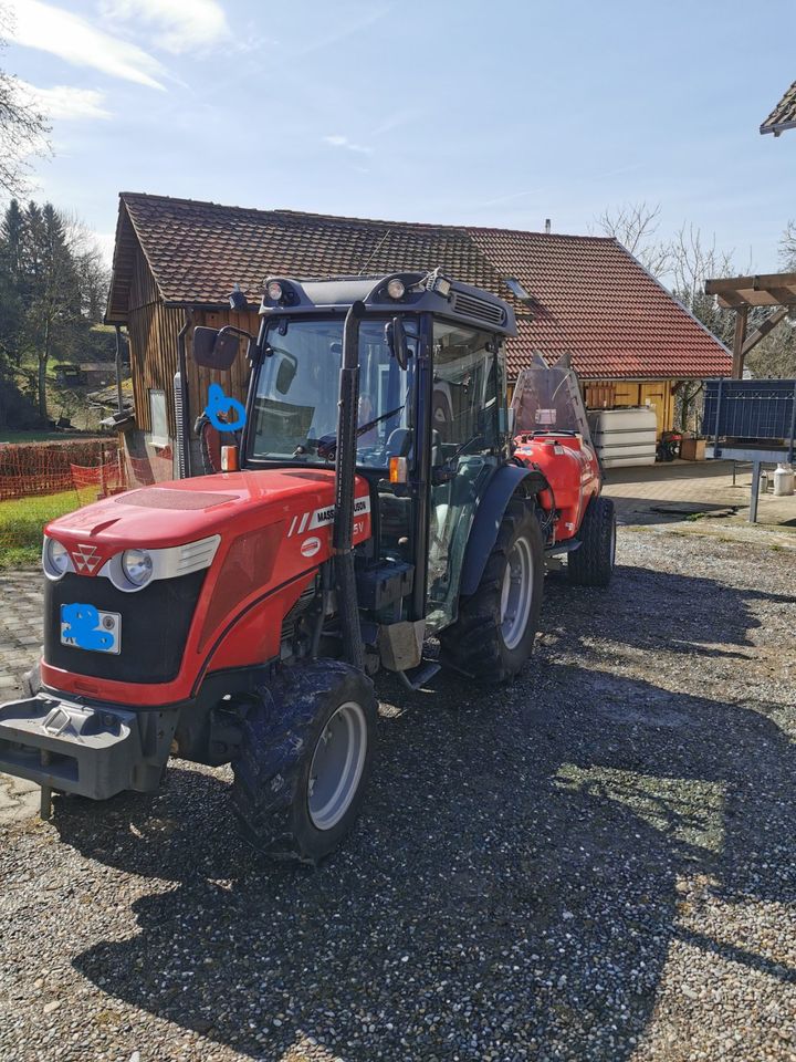
<path fill-rule="evenodd" d="M 254 699 L 232 761 L 245 841 L 276 858 L 318 863 L 354 825 L 376 738 L 373 684 L 338 660 L 286 669 Z"/>

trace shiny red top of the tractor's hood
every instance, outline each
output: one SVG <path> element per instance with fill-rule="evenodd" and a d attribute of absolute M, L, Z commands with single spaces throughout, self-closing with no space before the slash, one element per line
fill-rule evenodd
<path fill-rule="evenodd" d="M 359 478 L 356 496 L 364 508 L 367 483 Z M 164 549 L 208 535 L 223 537 L 232 529 L 238 534 L 281 521 L 285 534 L 301 534 L 310 530 L 313 517 L 316 528 L 331 525 L 333 507 L 331 469 L 221 472 L 129 490 L 60 517 L 44 531 L 70 552 L 78 542 L 90 543 L 107 556 L 124 549 Z"/>

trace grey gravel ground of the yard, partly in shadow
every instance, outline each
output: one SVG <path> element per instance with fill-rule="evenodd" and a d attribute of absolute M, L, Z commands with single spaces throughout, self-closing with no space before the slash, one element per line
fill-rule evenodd
<path fill-rule="evenodd" d="M 793 554 L 619 544 L 608 592 L 548 581 L 512 687 L 380 687 L 318 871 L 179 762 L 0 825 L 0 1058 L 796 1060 Z"/>

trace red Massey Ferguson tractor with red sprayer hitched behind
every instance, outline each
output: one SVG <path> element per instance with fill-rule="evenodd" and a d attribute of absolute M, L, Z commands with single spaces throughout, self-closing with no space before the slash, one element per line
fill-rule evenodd
<path fill-rule="evenodd" d="M 45 528 L 43 656 L 0 706 L 0 770 L 48 814 L 53 790 L 156 790 L 169 756 L 231 762 L 244 836 L 316 862 L 362 803 L 370 675 L 516 675 L 545 551 L 582 542 L 570 571 L 604 583 L 612 523 L 607 545 L 580 436 L 530 431 L 513 457 L 494 295 L 439 271 L 274 278 L 261 315 L 228 471 Z M 239 342 L 197 327 L 192 354 L 224 371 Z"/>

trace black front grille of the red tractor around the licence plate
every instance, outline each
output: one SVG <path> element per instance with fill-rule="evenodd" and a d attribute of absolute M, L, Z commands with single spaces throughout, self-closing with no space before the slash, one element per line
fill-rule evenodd
<path fill-rule="evenodd" d="M 133 594 L 109 579 L 67 572 L 44 587 L 44 659 L 76 675 L 116 683 L 168 683 L 182 663 L 205 571 L 157 579 Z M 122 652 L 95 653 L 61 644 L 61 605 L 94 605 L 122 616 Z"/>

